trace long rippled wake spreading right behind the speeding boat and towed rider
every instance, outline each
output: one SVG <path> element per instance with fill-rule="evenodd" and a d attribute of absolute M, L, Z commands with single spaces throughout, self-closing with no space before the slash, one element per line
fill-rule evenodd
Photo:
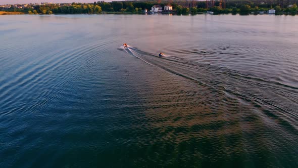
<path fill-rule="evenodd" d="M 197 82 L 200 87 L 214 91 L 212 93 L 214 97 L 221 97 L 222 94 L 230 95 L 231 98 L 241 104 L 249 104 L 270 118 L 273 117 L 282 123 L 288 123 L 290 130 L 297 130 L 298 128 L 298 125 L 293 122 L 293 120 L 298 119 L 295 114 L 295 109 L 298 109 L 296 87 L 242 74 L 224 67 L 176 59 L 175 57 L 158 57 L 132 47 L 126 52 L 147 64 Z M 287 102 L 287 105 L 282 102 Z"/>

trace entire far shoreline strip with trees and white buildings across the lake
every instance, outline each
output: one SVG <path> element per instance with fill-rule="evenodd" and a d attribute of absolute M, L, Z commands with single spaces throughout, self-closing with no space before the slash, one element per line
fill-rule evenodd
<path fill-rule="evenodd" d="M 275 0 L 277 1 L 277 0 Z M 298 0 L 291 3 L 275 3 L 271 1 L 261 2 L 251 0 L 233 1 L 97 1 L 94 3 L 41 3 L 41 4 L 15 4 L 0 6 L 2 15 L 30 14 L 116 14 L 116 15 L 140 15 L 147 13 L 162 13 L 173 15 L 208 14 L 240 14 L 240 15 L 296 15 L 298 13 Z M 12 13 L 20 12 L 20 13 Z"/>

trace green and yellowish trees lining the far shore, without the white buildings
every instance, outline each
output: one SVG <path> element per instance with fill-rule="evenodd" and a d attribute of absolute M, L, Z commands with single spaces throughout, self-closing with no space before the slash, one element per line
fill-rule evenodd
<path fill-rule="evenodd" d="M 224 13 L 251 13 L 268 11 L 275 9 L 277 13 L 296 14 L 298 8 L 295 3 L 298 0 L 285 0 L 287 2 L 281 4 L 281 0 L 229 0 L 226 1 L 225 8 L 220 8 L 219 1 L 215 1 L 212 7 L 206 1 L 173 1 L 173 13 L 177 14 L 197 14 L 206 11 L 212 11 L 215 14 Z M 70 6 L 61 5 L 39 5 L 34 9 L 14 9 L 14 11 L 28 12 L 28 14 L 101 14 L 101 13 L 127 13 L 127 14 L 141 14 L 144 9 L 151 10 L 153 5 L 161 5 L 164 7 L 168 1 L 122 1 L 122 2 L 104 2 L 97 1 L 92 4 L 72 3 Z M 288 7 L 288 5 L 292 5 Z M 0 9 L 1 10 L 1 9 Z M 2 9 L 3 10 L 3 9 Z M 12 9 L 9 9 L 12 10 Z M 9 11 L 6 10 L 6 11 Z M 26 11 L 27 10 L 27 11 Z"/>

